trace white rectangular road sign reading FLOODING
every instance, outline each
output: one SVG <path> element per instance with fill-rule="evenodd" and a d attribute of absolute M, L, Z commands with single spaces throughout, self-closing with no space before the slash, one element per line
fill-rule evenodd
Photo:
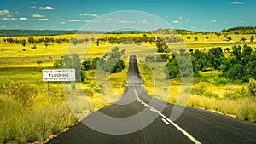
<path fill-rule="evenodd" d="M 76 80 L 75 69 L 44 69 L 42 72 L 43 81 L 47 82 L 68 82 Z"/>

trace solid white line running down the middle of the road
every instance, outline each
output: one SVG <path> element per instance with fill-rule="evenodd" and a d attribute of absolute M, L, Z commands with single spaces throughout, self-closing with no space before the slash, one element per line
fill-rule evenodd
<path fill-rule="evenodd" d="M 144 106 L 149 107 L 150 109 L 153 109 L 154 112 L 157 112 L 162 118 L 164 118 L 167 122 L 169 122 L 170 124 L 172 124 L 175 128 L 177 128 L 177 130 L 181 131 L 183 133 L 183 135 L 187 136 L 191 141 L 193 141 L 195 144 L 201 144 L 200 141 L 197 141 L 192 135 L 189 135 L 189 133 L 185 130 L 183 130 L 180 126 L 178 126 L 177 124 L 175 124 L 174 122 L 172 122 L 172 120 L 170 118 L 167 118 L 163 113 L 157 111 L 156 109 L 154 109 L 154 107 L 149 106 L 148 104 L 146 104 L 145 102 L 143 102 L 137 95 L 137 91 L 136 89 L 134 89 L 135 95 L 137 96 L 137 100 L 140 101 Z"/>

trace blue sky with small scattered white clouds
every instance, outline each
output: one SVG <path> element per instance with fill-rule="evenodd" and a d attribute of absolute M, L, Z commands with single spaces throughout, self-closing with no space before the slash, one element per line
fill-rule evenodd
<path fill-rule="evenodd" d="M 143 17 L 146 14 L 140 18 L 137 14 L 117 18 L 109 14 L 137 10 L 156 15 L 173 28 L 221 31 L 256 26 L 255 9 L 255 0 L 0 0 L 0 29 L 78 30 L 109 21 L 111 25 L 153 25 Z M 103 14 L 107 17 L 102 18 Z"/>

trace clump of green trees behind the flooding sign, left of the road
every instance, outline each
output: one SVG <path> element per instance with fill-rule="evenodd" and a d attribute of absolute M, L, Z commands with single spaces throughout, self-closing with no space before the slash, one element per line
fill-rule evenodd
<path fill-rule="evenodd" d="M 124 60 L 121 57 L 125 55 L 125 49 L 119 50 L 115 47 L 111 52 L 106 53 L 103 58 L 93 58 L 81 62 L 79 55 L 64 55 L 61 59 L 56 60 L 54 68 L 73 68 L 76 71 L 76 81 L 84 82 L 86 80 L 85 71 L 99 69 L 104 72 L 118 73 L 125 68 Z"/>

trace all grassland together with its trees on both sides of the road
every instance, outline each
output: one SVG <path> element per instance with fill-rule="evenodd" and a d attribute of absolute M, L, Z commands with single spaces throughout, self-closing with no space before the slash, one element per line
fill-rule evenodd
<path fill-rule="evenodd" d="M 187 92 L 180 89 L 180 76 L 193 77 L 188 106 L 255 122 L 255 33 L 229 31 L 0 37 L 0 143 L 46 141 L 49 135 L 60 134 L 90 112 L 110 105 L 112 102 L 104 97 L 108 94 L 105 86 L 96 83 L 96 68 L 109 73 L 111 89 L 116 94 L 113 100 L 117 100 L 125 87 L 130 54 L 138 55 L 143 85 L 150 95 L 161 98 L 155 94 L 155 89 L 163 85 L 154 83 L 158 71 L 162 72 L 158 77 L 170 78 L 167 101 L 172 103 Z M 181 49 L 183 42 L 187 49 Z M 84 57 L 67 55 L 67 47 L 82 47 L 87 52 Z M 189 59 L 183 59 L 188 55 L 193 63 L 190 67 L 186 65 Z M 178 61 L 183 65 L 177 65 Z M 168 71 L 154 68 L 160 64 Z M 64 86 L 50 83 L 48 101 L 47 83 L 42 81 L 41 72 L 61 67 L 76 68 L 77 81 Z M 108 80 L 102 78 L 105 79 Z M 68 88 L 71 97 L 63 87 Z"/>

